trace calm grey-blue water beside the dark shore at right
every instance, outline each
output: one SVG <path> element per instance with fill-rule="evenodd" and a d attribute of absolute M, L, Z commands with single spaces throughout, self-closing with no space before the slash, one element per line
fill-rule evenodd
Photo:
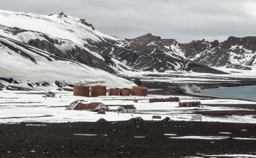
<path fill-rule="evenodd" d="M 201 96 L 215 96 L 220 98 L 245 98 L 256 101 L 256 86 L 235 86 L 219 89 L 203 89 L 200 93 L 192 93 Z"/>

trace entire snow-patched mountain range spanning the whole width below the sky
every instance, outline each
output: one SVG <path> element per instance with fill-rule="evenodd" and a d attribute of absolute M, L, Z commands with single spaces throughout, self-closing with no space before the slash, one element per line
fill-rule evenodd
<path fill-rule="evenodd" d="M 84 19 L 0 10 L 0 77 L 33 82 L 84 81 L 131 86 L 120 71 L 193 71 L 255 67 L 255 37 L 178 43 L 151 33 L 132 40 L 105 35 Z"/>

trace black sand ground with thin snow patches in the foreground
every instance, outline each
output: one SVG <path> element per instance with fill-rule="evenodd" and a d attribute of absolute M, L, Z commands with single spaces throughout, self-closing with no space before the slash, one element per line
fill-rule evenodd
<path fill-rule="evenodd" d="M 186 121 L 50 123 L 0 125 L 1 157 L 204 157 L 201 154 L 253 154 L 256 125 Z M 247 131 L 243 131 L 247 130 Z M 231 135 L 219 132 L 232 132 Z M 94 134 L 83 136 L 74 134 Z M 225 136 L 225 140 L 171 139 L 177 136 Z M 106 135 L 106 136 L 105 136 Z M 141 138 L 134 136 L 144 136 Z"/>

